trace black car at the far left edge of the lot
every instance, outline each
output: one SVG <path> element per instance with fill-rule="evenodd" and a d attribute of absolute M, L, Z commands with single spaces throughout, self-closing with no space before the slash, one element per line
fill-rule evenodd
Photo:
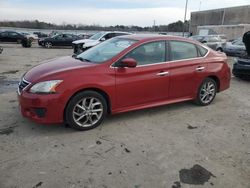
<path fill-rule="evenodd" d="M 16 31 L 3 31 L 0 33 L 0 42 L 16 42 L 22 43 L 27 37 Z"/>

